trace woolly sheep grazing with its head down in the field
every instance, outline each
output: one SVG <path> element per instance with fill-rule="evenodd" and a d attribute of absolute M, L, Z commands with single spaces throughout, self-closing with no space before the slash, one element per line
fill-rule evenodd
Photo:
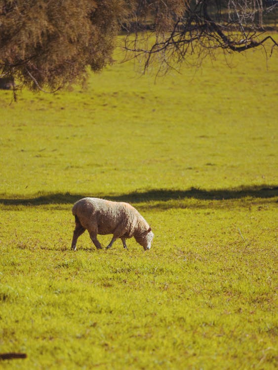
<path fill-rule="evenodd" d="M 76 251 L 77 239 L 85 230 L 88 230 L 97 249 L 102 248 L 97 240 L 97 234 L 113 234 L 107 249 L 111 248 L 118 238 L 121 239 L 123 248 L 127 249 L 125 239 L 133 236 L 145 251 L 151 248 L 154 237 L 152 228 L 140 213 L 128 203 L 112 202 L 99 198 L 82 198 L 74 204 L 72 212 L 76 222 L 72 240 L 72 250 L 74 251 Z"/>

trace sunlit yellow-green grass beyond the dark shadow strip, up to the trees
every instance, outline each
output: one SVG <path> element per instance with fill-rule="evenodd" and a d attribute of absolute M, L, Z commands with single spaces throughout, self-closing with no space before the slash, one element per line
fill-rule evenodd
<path fill-rule="evenodd" d="M 88 90 L 24 92 L 11 105 L 1 91 L 0 193 L 275 185 L 276 60 L 220 58 L 156 85 L 116 64 Z"/>

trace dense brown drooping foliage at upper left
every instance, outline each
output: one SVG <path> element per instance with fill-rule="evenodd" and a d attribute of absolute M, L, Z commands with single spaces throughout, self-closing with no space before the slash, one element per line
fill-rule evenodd
<path fill-rule="evenodd" d="M 31 89 L 84 80 L 111 61 L 119 0 L 15 0 L 0 5 L 0 68 Z"/>

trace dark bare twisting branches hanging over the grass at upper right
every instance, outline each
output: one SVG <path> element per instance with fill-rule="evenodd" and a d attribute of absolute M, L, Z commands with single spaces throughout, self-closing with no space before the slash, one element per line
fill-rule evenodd
<path fill-rule="evenodd" d="M 207 55 L 214 56 L 217 48 L 229 53 L 243 52 L 263 46 L 266 41 L 272 42 L 270 56 L 272 55 L 278 43 L 270 35 L 261 37 L 265 33 L 260 29 L 262 0 L 216 0 L 217 12 L 213 10 L 213 4 L 211 0 L 188 3 L 184 14 L 169 24 L 167 31 L 160 33 L 154 23 L 151 32 L 146 32 L 143 40 L 142 23 L 136 28 L 134 21 L 135 37 L 128 34 L 124 43 L 127 55 L 131 52 L 133 58 L 145 56 L 144 73 L 152 62 L 158 65 L 160 63 L 167 71 L 174 65 L 188 61 L 193 54 L 196 55 L 198 65 Z M 271 9 L 274 8 L 276 4 L 271 5 Z M 267 7 L 267 11 L 269 9 Z M 148 47 L 150 43 L 151 46 Z M 159 72 L 161 71 L 159 66 Z"/>

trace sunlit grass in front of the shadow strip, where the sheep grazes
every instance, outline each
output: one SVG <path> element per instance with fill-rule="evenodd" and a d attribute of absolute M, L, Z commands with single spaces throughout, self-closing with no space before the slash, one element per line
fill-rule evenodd
<path fill-rule="evenodd" d="M 274 369 L 276 205 L 169 202 L 137 205 L 150 253 L 88 234 L 72 253 L 70 206 L 6 206 L 1 350 L 28 353 L 20 368 Z"/>

